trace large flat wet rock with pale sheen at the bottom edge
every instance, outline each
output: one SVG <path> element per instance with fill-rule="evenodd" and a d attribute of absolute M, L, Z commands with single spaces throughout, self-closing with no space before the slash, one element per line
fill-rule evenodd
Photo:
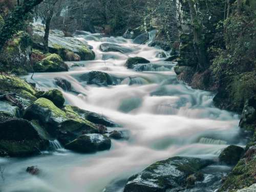
<path fill-rule="evenodd" d="M 211 163 L 209 160 L 190 157 L 173 157 L 158 161 L 130 177 L 124 192 L 164 192 L 167 189 L 182 191 L 186 189 L 189 175 L 198 173 Z"/>

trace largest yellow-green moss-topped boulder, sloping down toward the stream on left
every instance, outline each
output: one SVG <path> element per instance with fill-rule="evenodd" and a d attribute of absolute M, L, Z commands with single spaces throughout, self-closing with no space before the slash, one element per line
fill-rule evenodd
<path fill-rule="evenodd" d="M 39 98 L 30 105 L 26 109 L 24 117 L 28 120 L 38 120 L 54 137 L 58 137 L 60 132 L 62 133 L 61 136 L 72 133 L 70 138 L 72 140 L 83 132 L 97 132 L 94 123 L 80 117 L 72 108 L 65 106 L 61 110 L 46 98 Z"/>

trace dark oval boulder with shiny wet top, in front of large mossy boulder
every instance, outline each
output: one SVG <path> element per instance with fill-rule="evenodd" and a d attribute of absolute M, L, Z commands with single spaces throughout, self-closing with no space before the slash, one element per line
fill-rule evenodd
<path fill-rule="evenodd" d="M 92 153 L 96 151 L 109 150 L 111 140 L 101 134 L 82 135 L 65 145 L 65 148 L 78 153 Z"/>

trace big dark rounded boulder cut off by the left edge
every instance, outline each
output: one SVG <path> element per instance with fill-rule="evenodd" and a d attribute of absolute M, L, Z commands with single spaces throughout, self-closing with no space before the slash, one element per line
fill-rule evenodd
<path fill-rule="evenodd" d="M 12 118 L 0 122 L 0 154 L 25 157 L 37 155 L 48 146 L 49 141 L 42 139 L 29 121 Z"/>

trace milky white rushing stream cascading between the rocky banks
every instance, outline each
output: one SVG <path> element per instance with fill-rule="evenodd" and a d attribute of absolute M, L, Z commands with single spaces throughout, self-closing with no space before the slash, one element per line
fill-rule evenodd
<path fill-rule="evenodd" d="M 177 155 L 216 158 L 228 144 L 241 144 L 238 116 L 215 108 L 212 93 L 178 82 L 173 70 L 175 63 L 156 57 L 160 49 L 100 34 L 88 33 L 77 38 L 93 46 L 95 60 L 77 62 L 80 67 L 72 67 L 69 72 L 34 74 L 33 81 L 47 90 L 60 89 L 53 82 L 55 77 L 69 80 L 75 92 L 60 89 L 67 104 L 109 117 L 121 125 L 115 129 L 123 131 L 129 139 L 112 140 L 110 151 L 95 154 L 73 153 L 52 141 L 54 152 L 26 159 L 2 158 L 2 191 L 98 192 L 157 160 Z M 99 50 L 102 42 L 115 42 L 133 52 L 103 53 Z M 125 61 L 134 56 L 144 57 L 153 65 L 127 70 Z M 109 87 L 88 86 L 79 76 L 89 71 L 104 71 L 119 79 L 119 83 Z M 31 81 L 29 76 L 26 78 Z M 32 165 L 40 168 L 39 176 L 26 173 L 26 168 Z"/>

